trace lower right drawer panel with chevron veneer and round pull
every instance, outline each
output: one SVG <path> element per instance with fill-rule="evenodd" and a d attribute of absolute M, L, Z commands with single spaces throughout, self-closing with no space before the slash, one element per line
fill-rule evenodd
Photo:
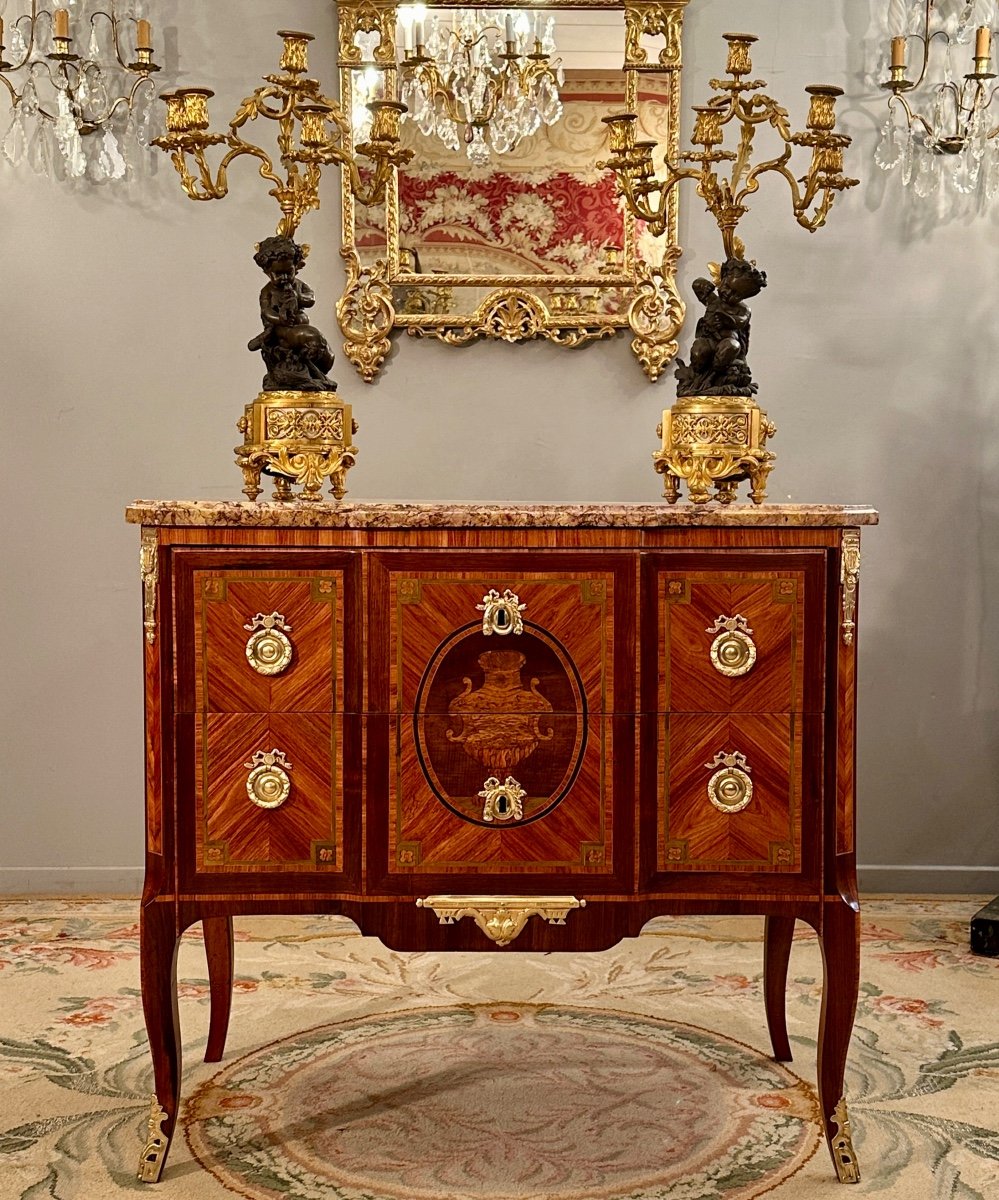
<path fill-rule="evenodd" d="M 658 870 L 802 870 L 802 718 L 674 713 L 658 730 Z"/>

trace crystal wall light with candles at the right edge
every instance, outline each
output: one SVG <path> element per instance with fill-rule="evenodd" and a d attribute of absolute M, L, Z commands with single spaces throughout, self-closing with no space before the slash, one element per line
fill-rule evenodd
<path fill-rule="evenodd" d="M 920 197 L 935 194 L 941 182 L 965 196 L 999 196 L 997 16 L 995 0 L 890 2 L 891 59 L 881 86 L 891 96 L 874 161 L 883 170 L 901 168 Z"/>

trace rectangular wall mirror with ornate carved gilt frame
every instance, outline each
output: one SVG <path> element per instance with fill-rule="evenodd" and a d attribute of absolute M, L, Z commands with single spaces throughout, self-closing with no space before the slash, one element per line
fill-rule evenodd
<path fill-rule="evenodd" d="M 676 193 L 665 238 L 617 198 L 603 118 L 639 114 L 678 149 L 689 0 L 540 0 L 504 8 L 340 0 L 340 95 L 351 150 L 371 101 L 402 101 L 384 203 L 341 192 L 345 353 L 367 382 L 394 330 L 449 346 L 630 334 L 650 379 L 677 352 Z M 359 160 L 361 163 L 364 160 Z"/>

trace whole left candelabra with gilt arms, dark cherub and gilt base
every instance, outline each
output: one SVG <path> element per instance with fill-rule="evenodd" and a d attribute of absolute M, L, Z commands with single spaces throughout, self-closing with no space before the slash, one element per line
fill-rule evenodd
<path fill-rule="evenodd" d="M 257 246 L 255 260 L 268 275 L 268 283 L 261 293 L 263 331 L 249 347 L 262 353 L 267 376 L 261 395 L 246 406 L 238 422 L 244 443 L 235 449 L 237 464 L 251 500 L 261 494 L 262 474 L 274 479 L 279 500 L 294 497 L 293 485 L 301 486 L 299 499 L 318 500 L 327 478 L 334 497 L 341 499 L 346 472 L 357 454 L 352 444 L 357 422 L 327 374 L 333 366 L 329 344 L 305 312 L 316 302 L 312 290 L 298 278 L 309 247 L 294 236 L 303 218 L 319 208 L 323 167 L 335 163 L 348 172 L 358 199 L 375 204 L 393 170 L 408 162 L 412 151 L 400 146 L 405 106 L 372 101 L 367 106 L 372 114 L 370 138 L 357 146 L 357 154 L 370 163 L 361 169 L 351 152 L 351 126 L 343 110 L 307 76 L 312 35 L 282 30 L 277 36 L 285 43 L 280 73 L 265 76 L 265 86 L 243 101 L 227 133 L 210 132 L 208 102 L 214 92 L 181 88 L 163 94 L 167 132 L 154 145 L 172 156 L 192 200 L 227 196 L 229 164 L 244 155 L 259 161 L 261 178 L 273 185 L 269 194 L 281 208 L 281 220 L 276 236 Z M 257 118 L 277 124 L 277 163 L 243 136 L 247 122 Z M 207 151 L 216 145 L 227 150 L 213 173 Z"/>

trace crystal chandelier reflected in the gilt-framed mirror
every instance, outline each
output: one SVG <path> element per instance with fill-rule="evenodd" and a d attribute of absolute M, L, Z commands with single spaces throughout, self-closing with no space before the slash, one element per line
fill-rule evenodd
<path fill-rule="evenodd" d="M 448 149 L 463 140 L 469 160 L 486 163 L 562 115 L 551 16 L 453 8 L 442 18 L 414 5 L 399 10 L 399 24 L 400 98 L 408 119 Z"/>

